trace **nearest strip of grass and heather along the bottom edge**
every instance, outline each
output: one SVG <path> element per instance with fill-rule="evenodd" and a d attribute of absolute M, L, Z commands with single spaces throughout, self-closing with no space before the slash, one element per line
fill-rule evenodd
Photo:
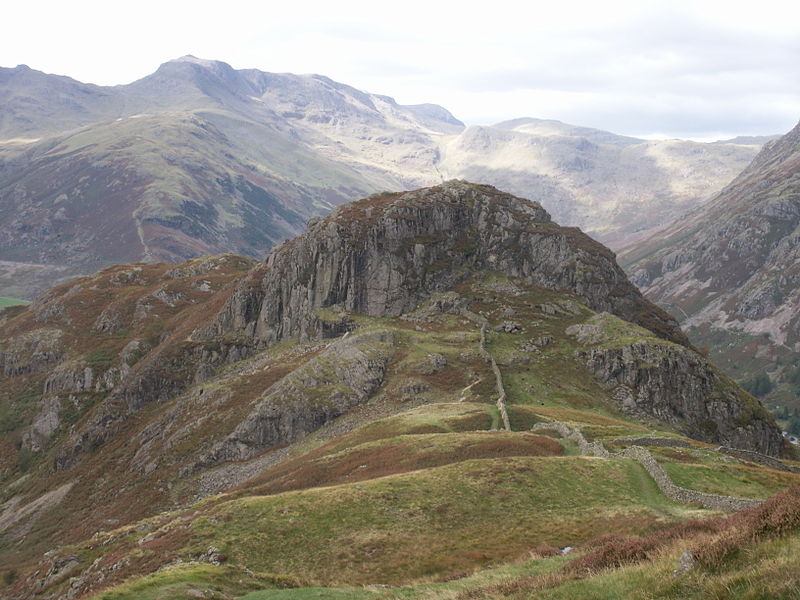
<path fill-rule="evenodd" d="M 679 543 L 630 567 L 575 576 L 561 567 L 568 556 L 530 558 L 513 565 L 485 569 L 472 575 L 441 583 L 420 583 L 404 587 L 300 587 L 234 591 L 239 600 L 748 600 L 800 598 L 800 534 L 753 544 L 722 570 L 695 568 L 679 577 L 673 575 L 683 546 Z M 187 590 L 206 593 L 207 598 L 222 598 L 221 581 L 230 580 L 235 571 L 224 574 L 223 567 L 193 566 L 170 569 L 154 576 L 118 586 L 94 600 L 177 600 L 189 596 Z M 216 572 L 216 573 L 215 573 Z M 190 576 L 191 582 L 180 581 Z M 259 577 L 259 576 L 256 576 Z M 261 576 L 264 577 L 264 576 Z M 247 585 L 257 579 L 247 579 Z M 274 586 L 274 582 L 268 585 Z M 162 586 L 159 588 L 158 586 Z M 231 597 L 231 596 L 228 596 Z"/>

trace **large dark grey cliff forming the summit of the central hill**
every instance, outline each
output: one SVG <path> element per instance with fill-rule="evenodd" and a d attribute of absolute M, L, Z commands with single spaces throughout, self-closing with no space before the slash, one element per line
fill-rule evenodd
<path fill-rule="evenodd" d="M 686 343 L 677 323 L 641 296 L 607 248 L 552 223 L 535 202 L 458 181 L 370 196 L 317 220 L 275 249 L 196 335 L 244 333 L 263 345 L 312 337 L 322 333 L 317 309 L 394 317 L 477 270 L 569 291 L 593 310 Z"/>

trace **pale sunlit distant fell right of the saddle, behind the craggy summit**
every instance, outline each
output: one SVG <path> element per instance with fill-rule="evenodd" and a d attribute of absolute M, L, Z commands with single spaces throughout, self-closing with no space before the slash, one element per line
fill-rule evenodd
<path fill-rule="evenodd" d="M 468 128 L 447 142 L 439 168 L 534 198 L 560 221 L 618 248 L 700 205 L 759 148 L 646 141 L 517 119 Z"/>

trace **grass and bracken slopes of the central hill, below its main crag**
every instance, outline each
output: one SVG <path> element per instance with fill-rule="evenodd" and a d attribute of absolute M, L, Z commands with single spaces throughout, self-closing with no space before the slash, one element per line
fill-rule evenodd
<path fill-rule="evenodd" d="M 763 499 L 800 483 L 800 475 L 720 454 L 654 417 L 623 412 L 582 358 L 591 349 L 652 347 L 652 362 L 638 366 L 651 373 L 672 348 L 689 350 L 574 296 L 494 273 L 398 318 L 319 312 L 326 322 L 350 323 L 346 337 L 268 348 L 232 336 L 194 339 L 252 265 L 222 256 L 113 267 L 53 290 L 5 324 L 0 351 L 16 361 L 7 364 L 31 371 L 0 390 L 0 593 L 63 595 L 74 586 L 80 597 L 106 599 L 495 594 L 492 586 L 540 575 L 572 582 L 561 574 L 570 556 L 555 556 L 563 547 L 719 516 L 669 500 L 632 459 L 583 456 L 572 440 L 530 431 L 543 421 L 565 422 L 609 450 L 631 445 L 620 438 L 676 440 L 680 447 L 651 450 L 690 489 Z M 448 302 L 466 309 L 441 310 Z M 511 431 L 499 430 L 480 319 L 489 323 L 485 347 L 508 393 Z M 519 331 L 505 331 L 509 321 Z M 374 393 L 311 431 L 283 425 L 284 437 L 255 453 L 207 458 L 276 389 L 286 391 L 276 400 L 281 411 L 336 406 L 349 392 L 329 381 L 330 370 L 368 351 L 363 340 L 377 332 L 385 370 Z M 56 350 L 69 354 L 35 370 L 34 357 Z M 192 362 L 226 352 L 239 352 L 238 360 Z M 353 364 L 344 378 L 358 375 Z M 87 367 L 100 387 L 83 384 Z M 124 385 L 109 393 L 105 378 Z M 142 398 L 153 381 L 174 388 L 136 410 L 120 400 Z M 26 451 L 25 435 L 47 408 L 45 387 L 61 402 L 60 423 Z M 107 419 L 112 433 L 80 438 L 93 419 Z M 300 433 L 290 435 L 292 427 Z M 53 469 L 64 448 L 76 446 L 74 462 Z"/>

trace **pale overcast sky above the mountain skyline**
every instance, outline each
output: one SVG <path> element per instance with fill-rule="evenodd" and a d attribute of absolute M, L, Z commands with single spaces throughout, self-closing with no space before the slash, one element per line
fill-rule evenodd
<path fill-rule="evenodd" d="M 529 116 L 716 139 L 800 120 L 798 4 L 28 0 L 3 6 L 0 66 L 111 85 L 193 54 L 321 73 L 468 124 Z"/>

